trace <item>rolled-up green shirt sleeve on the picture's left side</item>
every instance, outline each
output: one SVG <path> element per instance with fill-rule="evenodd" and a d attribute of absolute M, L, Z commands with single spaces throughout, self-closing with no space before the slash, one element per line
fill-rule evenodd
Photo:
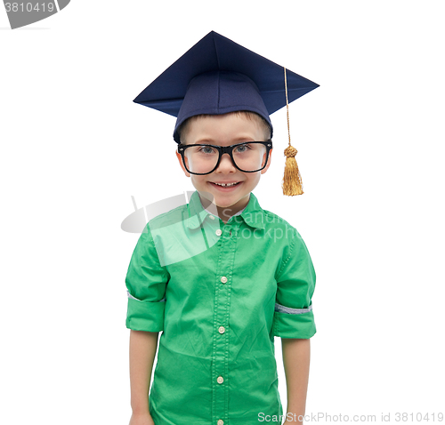
<path fill-rule="evenodd" d="M 166 284 L 169 274 L 160 265 L 147 225 L 138 240 L 125 277 L 128 307 L 125 325 L 134 331 L 164 330 Z"/>

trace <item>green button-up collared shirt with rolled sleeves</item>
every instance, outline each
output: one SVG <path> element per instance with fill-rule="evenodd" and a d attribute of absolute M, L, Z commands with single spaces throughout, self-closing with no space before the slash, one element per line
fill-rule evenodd
<path fill-rule="evenodd" d="M 149 221 L 125 285 L 126 327 L 162 331 L 149 397 L 156 425 L 250 425 L 283 415 L 274 337 L 316 332 L 315 271 L 297 230 L 253 193 L 227 223 L 197 191 Z"/>

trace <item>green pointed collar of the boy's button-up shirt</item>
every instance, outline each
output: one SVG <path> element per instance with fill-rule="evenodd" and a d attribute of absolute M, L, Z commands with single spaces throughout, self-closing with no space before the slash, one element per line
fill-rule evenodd
<path fill-rule="evenodd" d="M 193 192 L 193 194 L 190 196 L 188 211 L 189 220 L 187 221 L 187 226 L 189 229 L 198 229 L 200 224 L 206 220 L 208 215 L 214 215 L 214 217 L 218 218 L 215 214 L 212 214 L 203 207 L 201 204 L 201 199 L 199 198 L 198 190 L 195 190 L 195 192 Z M 250 192 L 249 202 L 247 203 L 246 207 L 240 212 L 234 214 L 233 217 L 235 216 L 237 216 L 237 218 L 234 220 L 239 221 L 242 219 L 250 227 L 264 229 L 264 211 L 253 192 Z"/>

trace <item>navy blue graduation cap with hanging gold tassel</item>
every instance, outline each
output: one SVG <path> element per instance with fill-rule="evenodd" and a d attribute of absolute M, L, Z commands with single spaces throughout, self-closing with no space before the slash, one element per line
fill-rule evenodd
<path fill-rule="evenodd" d="M 270 115 L 317 88 L 319 84 L 263 58 L 214 31 L 209 32 L 176 60 L 134 99 L 135 103 L 176 116 L 178 129 L 190 116 L 221 115 L 247 110 L 262 116 L 271 126 Z M 295 161 L 296 149 L 285 149 L 283 193 L 303 194 Z"/>

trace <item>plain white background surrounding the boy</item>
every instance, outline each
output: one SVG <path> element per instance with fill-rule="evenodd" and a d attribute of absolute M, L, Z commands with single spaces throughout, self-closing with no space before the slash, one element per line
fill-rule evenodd
<path fill-rule="evenodd" d="M 317 272 L 306 412 L 443 412 L 441 5 L 73 0 L 15 30 L 0 7 L 0 422 L 128 423 L 120 224 L 193 190 L 174 117 L 133 100 L 211 30 L 320 84 L 289 108 L 304 195 L 281 193 L 286 108 L 254 191 Z"/>

